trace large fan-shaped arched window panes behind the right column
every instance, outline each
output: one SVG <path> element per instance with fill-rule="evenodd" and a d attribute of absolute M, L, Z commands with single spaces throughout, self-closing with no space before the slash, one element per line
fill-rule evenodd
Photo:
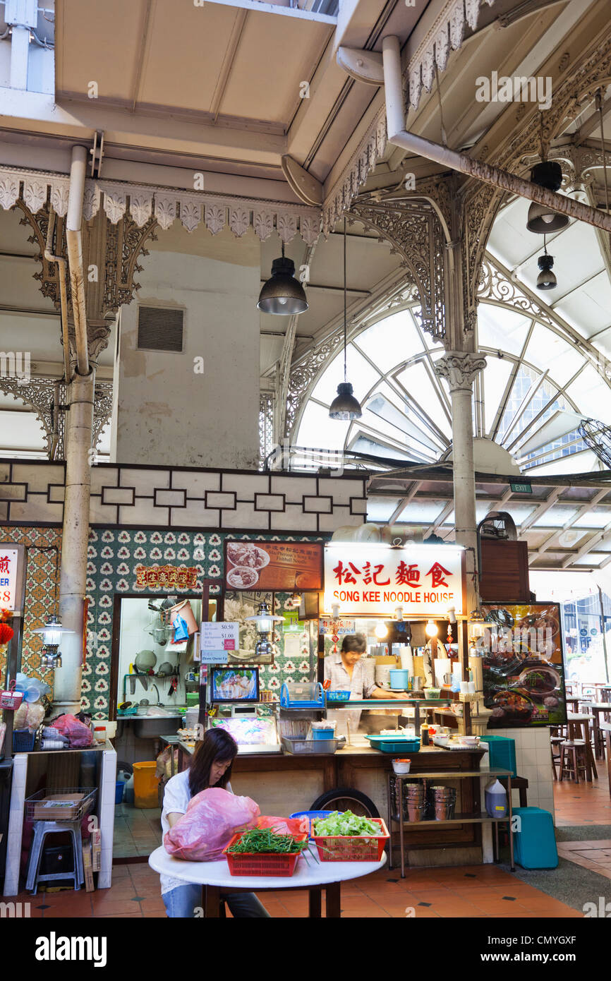
<path fill-rule="evenodd" d="M 530 276 L 530 266 L 525 269 Z M 488 256 L 478 308 L 486 367 L 475 385 L 474 433 L 507 449 L 524 472 L 597 469 L 601 465 L 577 428 L 583 418 L 611 419 L 611 387 L 598 353 L 519 279 Z M 422 330 L 416 303 L 382 317 L 348 344 L 348 380 L 363 407 L 361 419 L 329 420 L 343 381 L 339 351 L 312 387 L 292 441 L 413 462 L 445 459 L 451 452 L 450 395 L 433 370 L 443 353 Z"/>

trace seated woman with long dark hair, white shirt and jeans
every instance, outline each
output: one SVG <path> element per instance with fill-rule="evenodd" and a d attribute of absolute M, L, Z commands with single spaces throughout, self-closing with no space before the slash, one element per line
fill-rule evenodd
<path fill-rule="evenodd" d="M 237 755 L 237 744 L 225 729 L 210 729 L 193 754 L 188 770 L 182 770 L 166 784 L 161 813 L 163 834 L 170 830 L 185 813 L 189 800 L 209 787 L 222 787 L 233 793 L 229 778 L 231 763 Z M 162 875 L 161 896 L 171 917 L 192 917 L 195 907 L 201 908 L 202 888 L 197 883 Z M 233 916 L 269 916 L 254 893 L 228 893 L 226 903 Z"/>

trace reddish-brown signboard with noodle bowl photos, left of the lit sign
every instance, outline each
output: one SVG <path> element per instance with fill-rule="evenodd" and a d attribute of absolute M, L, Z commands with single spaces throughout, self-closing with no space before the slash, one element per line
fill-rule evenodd
<path fill-rule="evenodd" d="M 225 542 L 228 590 L 322 590 L 323 542 Z"/>

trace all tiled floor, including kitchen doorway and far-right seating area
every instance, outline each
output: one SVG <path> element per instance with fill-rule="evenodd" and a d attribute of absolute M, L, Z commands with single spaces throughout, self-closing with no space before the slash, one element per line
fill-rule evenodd
<path fill-rule="evenodd" d="M 554 784 L 556 823 L 559 827 L 611 824 L 611 799 L 606 767 L 600 765 L 592 784 Z M 120 804 L 115 816 L 118 857 L 148 855 L 161 844 L 159 809 L 140 810 Z M 561 842 L 563 858 L 611 878 L 611 840 Z M 576 874 L 579 874 L 576 867 Z M 159 876 L 146 863 L 116 865 L 113 886 L 87 894 L 47 893 L 19 897 L 29 903 L 31 915 L 56 917 L 165 917 Z M 307 917 L 307 894 L 279 890 L 261 894 L 273 917 Z M 354 879 L 342 889 L 342 916 L 346 918 L 538 918 L 581 917 L 577 909 L 494 865 L 463 868 L 415 868 L 401 879 L 395 870 Z M 324 906 L 323 906 L 324 908 Z M 413 912 L 412 912 L 413 911 Z"/>

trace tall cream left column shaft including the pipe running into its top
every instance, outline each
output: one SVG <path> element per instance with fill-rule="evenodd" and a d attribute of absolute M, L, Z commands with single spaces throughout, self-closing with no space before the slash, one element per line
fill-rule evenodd
<path fill-rule="evenodd" d="M 53 683 L 55 712 L 80 710 L 80 677 L 83 635 L 83 600 L 87 572 L 89 495 L 91 490 L 91 434 L 95 370 L 89 365 L 84 276 L 82 266 L 82 198 L 87 150 L 73 148 L 66 242 L 75 322 L 76 372 L 72 379 L 66 417 L 66 496 L 60 568 L 60 616 L 72 634 L 62 641 L 62 666 Z"/>

